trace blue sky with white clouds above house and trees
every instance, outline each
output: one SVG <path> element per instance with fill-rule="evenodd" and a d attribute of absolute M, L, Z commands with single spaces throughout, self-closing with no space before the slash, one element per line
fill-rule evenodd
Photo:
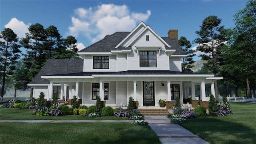
<path fill-rule="evenodd" d="M 141 21 L 158 35 L 168 36 L 178 29 L 178 36 L 190 42 L 198 36 L 196 30 L 210 15 L 222 19 L 225 28 L 235 26 L 234 14 L 246 6 L 246 0 L 0 0 L 0 31 L 12 28 L 24 37 L 31 24 L 44 28 L 54 25 L 63 38 L 78 40 L 82 49 L 116 31 L 130 32 Z M 195 47 L 196 44 L 192 44 Z M 198 54 L 198 53 L 197 53 Z M 200 60 L 195 57 L 194 60 Z"/>

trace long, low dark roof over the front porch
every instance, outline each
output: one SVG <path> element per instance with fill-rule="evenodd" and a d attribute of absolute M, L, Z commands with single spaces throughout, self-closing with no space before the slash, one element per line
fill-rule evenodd
<path fill-rule="evenodd" d="M 194 72 L 176 72 L 176 71 L 169 71 L 169 70 L 128 70 L 122 72 L 77 72 L 77 73 L 70 73 L 70 74 L 52 74 L 48 76 L 92 76 L 92 74 L 125 74 L 125 75 L 160 75 L 160 74 L 203 74 L 203 73 L 194 73 Z"/>

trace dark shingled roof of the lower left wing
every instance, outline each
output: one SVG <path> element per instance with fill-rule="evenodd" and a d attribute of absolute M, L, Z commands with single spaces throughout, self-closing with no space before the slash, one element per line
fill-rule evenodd
<path fill-rule="evenodd" d="M 70 74 L 83 72 L 84 60 L 48 60 L 29 84 L 50 84 L 49 80 L 41 78 L 51 74 Z"/>

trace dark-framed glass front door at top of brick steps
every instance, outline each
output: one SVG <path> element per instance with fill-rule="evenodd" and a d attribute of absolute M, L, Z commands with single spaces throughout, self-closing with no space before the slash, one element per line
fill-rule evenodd
<path fill-rule="evenodd" d="M 155 106 L 154 81 L 143 81 L 143 106 Z"/>

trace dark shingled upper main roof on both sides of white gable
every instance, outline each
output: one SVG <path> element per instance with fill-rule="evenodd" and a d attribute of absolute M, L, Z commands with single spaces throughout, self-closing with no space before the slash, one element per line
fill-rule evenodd
<path fill-rule="evenodd" d="M 111 50 L 130 50 L 131 47 L 118 47 L 115 48 L 130 32 L 115 32 L 114 34 L 103 38 L 102 40 L 80 50 L 79 52 L 110 52 Z M 170 39 L 169 37 L 162 37 L 172 48 L 165 47 L 167 50 L 176 50 L 174 55 L 182 55 L 184 52 L 180 48 L 180 45 L 176 39 Z"/>

